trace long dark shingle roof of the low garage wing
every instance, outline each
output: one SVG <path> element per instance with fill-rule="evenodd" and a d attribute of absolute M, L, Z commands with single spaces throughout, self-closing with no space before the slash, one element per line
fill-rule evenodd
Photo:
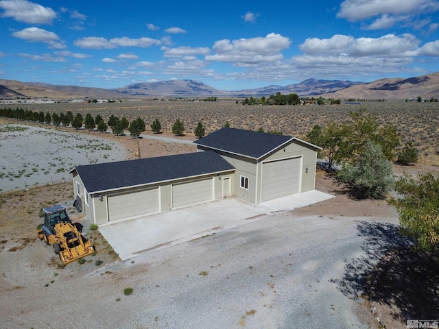
<path fill-rule="evenodd" d="M 213 151 L 76 167 L 88 193 L 234 170 Z M 72 170 L 72 171 L 73 171 Z"/>

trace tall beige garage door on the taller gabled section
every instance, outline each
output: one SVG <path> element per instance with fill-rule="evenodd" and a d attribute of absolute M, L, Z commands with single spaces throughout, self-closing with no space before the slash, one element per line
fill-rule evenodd
<path fill-rule="evenodd" d="M 262 164 L 263 202 L 300 191 L 301 159 L 291 158 Z"/>

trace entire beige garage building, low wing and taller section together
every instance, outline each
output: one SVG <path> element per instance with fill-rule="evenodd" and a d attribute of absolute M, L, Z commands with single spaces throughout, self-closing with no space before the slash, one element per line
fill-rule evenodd
<path fill-rule="evenodd" d="M 224 127 L 197 152 L 72 169 L 80 211 L 98 225 L 235 196 L 252 204 L 314 189 L 320 147 Z"/>

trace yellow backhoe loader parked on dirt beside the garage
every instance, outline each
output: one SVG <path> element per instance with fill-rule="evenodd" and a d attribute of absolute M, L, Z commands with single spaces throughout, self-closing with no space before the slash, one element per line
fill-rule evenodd
<path fill-rule="evenodd" d="M 54 248 L 64 265 L 95 252 L 95 247 L 78 230 L 78 223 L 71 223 L 63 204 L 43 208 L 43 212 L 43 228 L 36 233 L 38 238 Z"/>

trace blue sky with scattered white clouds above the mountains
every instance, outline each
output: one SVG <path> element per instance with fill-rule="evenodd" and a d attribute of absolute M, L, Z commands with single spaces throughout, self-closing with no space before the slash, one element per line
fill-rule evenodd
<path fill-rule="evenodd" d="M 240 90 L 439 71 L 439 1 L 0 0 L 0 79 Z"/>

